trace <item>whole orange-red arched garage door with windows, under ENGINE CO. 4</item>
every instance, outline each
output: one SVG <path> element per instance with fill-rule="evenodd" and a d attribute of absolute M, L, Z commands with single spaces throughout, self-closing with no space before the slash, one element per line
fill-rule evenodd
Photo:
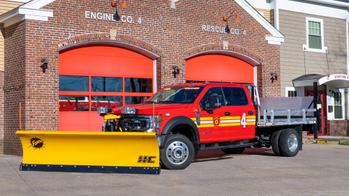
<path fill-rule="evenodd" d="M 141 103 L 153 94 L 153 60 L 122 47 L 89 45 L 59 54 L 59 130 L 101 131 L 97 107 Z"/>

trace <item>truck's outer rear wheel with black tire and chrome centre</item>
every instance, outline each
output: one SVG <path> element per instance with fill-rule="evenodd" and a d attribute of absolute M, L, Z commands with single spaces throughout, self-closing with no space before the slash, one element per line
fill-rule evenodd
<path fill-rule="evenodd" d="M 293 144 L 290 147 L 288 143 L 289 138 L 290 138 L 290 141 L 292 142 L 291 144 Z M 293 128 L 285 129 L 283 130 L 283 133 L 281 133 L 280 135 L 279 151 L 283 156 L 288 156 L 288 157 L 296 156 L 299 151 L 299 146 L 300 146 L 299 142 L 300 140 L 299 140 L 299 135 L 297 133 L 297 130 Z"/>

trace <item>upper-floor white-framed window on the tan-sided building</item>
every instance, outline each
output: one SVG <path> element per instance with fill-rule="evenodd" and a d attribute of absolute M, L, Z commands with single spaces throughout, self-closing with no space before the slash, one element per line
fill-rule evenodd
<path fill-rule="evenodd" d="M 310 52 L 326 52 L 322 19 L 306 17 L 306 45 L 303 47 Z"/>

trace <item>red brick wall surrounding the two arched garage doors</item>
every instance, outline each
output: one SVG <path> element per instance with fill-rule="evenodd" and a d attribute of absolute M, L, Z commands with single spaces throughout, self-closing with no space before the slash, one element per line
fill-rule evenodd
<path fill-rule="evenodd" d="M 162 56 L 165 58 L 158 60 L 156 65 L 158 88 L 186 80 L 186 68 L 182 66 L 186 50 L 191 50 L 191 48 L 199 45 L 223 43 L 223 40 L 228 40 L 230 44 L 240 45 L 262 57 L 263 63 L 261 66 L 258 66 L 260 96 L 281 96 L 280 80 L 272 83 L 269 79 L 271 72 L 280 73 L 280 46 L 267 43 L 265 36 L 271 35 L 269 32 L 239 7 L 235 1 L 184 2 L 177 3 L 176 9 L 170 9 L 168 1 L 165 0 L 128 1 L 128 8 L 118 7 L 120 16 L 133 17 L 133 23 L 128 23 L 121 20 L 115 22 L 85 18 L 85 11 L 115 13 L 109 1 L 54 1 L 50 5 L 43 7 L 43 9 L 54 11 L 54 17 L 49 18 L 47 22 L 26 20 L 7 27 L 6 31 L 15 34 L 17 31 L 21 31 L 21 33 L 18 36 L 13 36 L 13 38 L 17 38 L 16 44 L 10 43 L 13 38 L 11 39 L 8 36 L 6 38 L 6 47 L 12 48 L 13 45 L 24 47 L 24 38 L 20 36 L 23 36 L 22 33 L 25 33 L 25 77 L 26 82 L 31 84 L 31 105 L 30 107 L 27 105 L 29 101 L 27 99 L 25 104 L 25 120 L 23 120 L 25 128 L 54 130 L 54 121 L 52 119 L 54 117 L 54 105 L 57 104 L 54 100 L 58 96 L 57 94 L 54 95 L 54 80 L 56 79 L 53 77 L 52 62 L 54 62 L 54 56 L 58 56 L 56 43 L 59 40 L 73 36 L 82 36 L 89 33 L 109 33 L 110 29 L 116 29 L 117 33 L 147 41 L 161 48 L 163 51 Z M 202 31 L 202 25 L 225 27 L 226 23 L 222 20 L 223 15 L 230 14 L 234 9 L 237 9 L 239 13 L 240 22 L 237 24 L 230 20 L 229 26 L 230 28 L 239 29 L 239 36 L 230 33 Z M 141 24 L 138 23 L 140 17 L 142 18 Z M 244 30 L 246 30 L 246 36 L 243 34 Z M 6 33 L 6 35 L 10 34 L 10 32 Z M 18 52 L 19 50 L 11 50 L 11 52 L 7 53 L 7 59 L 10 59 L 10 56 L 16 56 L 16 54 L 20 55 Z M 23 56 L 24 52 L 21 55 Z M 46 73 L 42 73 L 40 69 L 40 59 L 43 57 L 50 61 Z M 55 71 L 58 73 L 59 59 L 57 60 Z M 9 62 L 9 60 L 7 61 Z M 161 61 L 164 63 L 162 64 Z M 20 61 L 18 61 L 18 64 L 20 64 Z M 6 77 L 9 78 L 10 75 L 14 74 L 16 74 L 15 78 L 24 77 L 22 71 L 15 73 L 15 70 L 10 68 L 10 63 L 6 65 L 8 66 L 5 73 Z M 181 69 L 181 73 L 175 78 L 172 74 L 172 66 L 174 65 L 179 66 Z M 58 80 L 58 77 L 56 78 Z M 10 78 L 8 83 L 10 84 L 11 81 L 15 82 L 15 80 L 17 79 Z M 25 91 L 24 93 L 18 94 L 18 96 L 29 97 L 29 92 Z M 13 104 L 8 107 L 9 110 L 17 111 L 15 103 L 19 101 L 19 98 L 7 100 Z M 30 110 L 33 110 L 33 112 Z M 59 112 L 57 112 L 56 116 L 59 116 Z M 8 118 L 6 122 L 9 124 L 6 131 L 11 130 L 14 133 L 17 123 L 13 122 L 15 119 Z M 31 118 L 33 120 L 32 124 L 30 123 Z M 6 133 L 6 137 L 10 138 L 10 140 L 18 141 L 12 133 Z M 9 135 L 7 136 L 7 134 Z M 17 154 L 21 153 L 20 149 L 13 148 L 13 151 Z"/>

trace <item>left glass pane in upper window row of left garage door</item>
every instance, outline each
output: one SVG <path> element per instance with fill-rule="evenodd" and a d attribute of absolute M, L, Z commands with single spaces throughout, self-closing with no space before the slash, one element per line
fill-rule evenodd
<path fill-rule="evenodd" d="M 89 91 L 89 77 L 59 75 L 59 91 Z"/>

